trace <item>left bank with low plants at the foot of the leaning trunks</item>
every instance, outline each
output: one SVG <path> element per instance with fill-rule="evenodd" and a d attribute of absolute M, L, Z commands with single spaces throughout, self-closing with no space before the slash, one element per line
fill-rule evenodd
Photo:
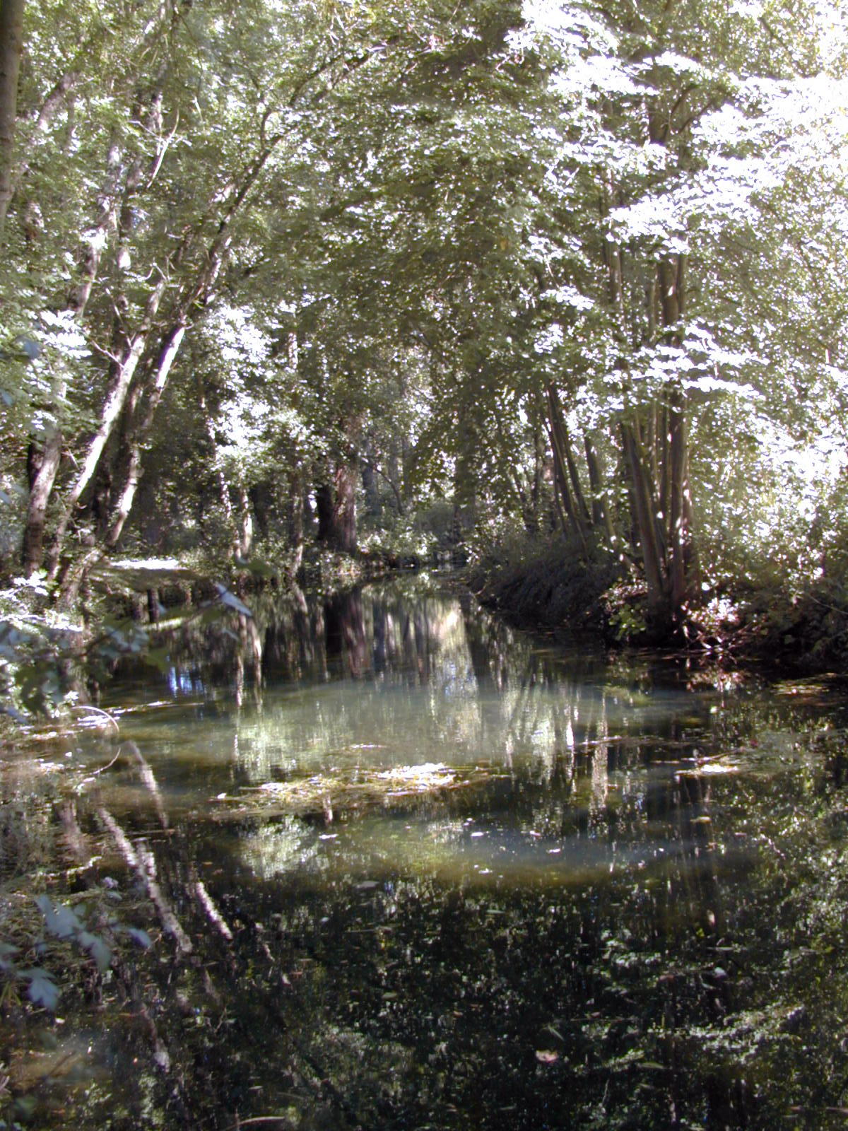
<path fill-rule="evenodd" d="M 87 702 L 89 687 L 122 658 L 157 664 L 161 629 L 208 625 L 250 616 L 254 601 L 303 601 L 303 590 L 330 595 L 417 569 L 418 559 L 389 553 L 335 553 L 319 547 L 298 560 L 260 558 L 104 560 L 92 568 L 72 606 L 42 577 L 11 579 L 0 589 L 0 729 Z M 14 731 L 15 723 L 9 724 Z"/>

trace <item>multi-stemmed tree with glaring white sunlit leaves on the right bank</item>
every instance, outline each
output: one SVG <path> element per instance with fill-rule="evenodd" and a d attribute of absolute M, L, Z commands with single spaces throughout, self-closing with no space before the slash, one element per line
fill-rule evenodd
<path fill-rule="evenodd" d="M 747 280 L 727 270 L 738 211 L 727 199 L 727 154 L 739 153 L 736 191 L 751 200 L 767 152 L 752 146 L 762 95 L 769 81 L 779 97 L 791 85 L 771 78 L 795 66 L 775 32 L 784 19 L 777 6 L 759 19 L 701 0 L 638 11 L 578 3 L 546 9 L 527 33 L 559 60 L 543 119 L 557 153 L 535 211 L 544 259 L 527 326 L 563 524 L 618 553 L 633 532 L 658 634 L 680 630 L 701 596 L 695 460 L 715 491 L 710 454 L 693 454 L 701 416 L 722 397 L 743 405 L 762 365 L 735 348 Z M 807 34 L 796 54 L 812 68 L 811 12 L 798 19 Z M 763 259 L 775 250 L 763 248 Z M 599 424 L 615 475 L 606 484 Z"/>

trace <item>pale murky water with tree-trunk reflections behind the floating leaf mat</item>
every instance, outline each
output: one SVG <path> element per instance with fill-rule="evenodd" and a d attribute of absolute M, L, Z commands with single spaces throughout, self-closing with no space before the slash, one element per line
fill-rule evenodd
<path fill-rule="evenodd" d="M 660 761 L 715 748 L 715 693 L 611 681 L 600 654 L 539 647 L 467 599 L 390 586 L 257 610 L 207 639 L 202 666 L 175 646 L 167 687 L 147 682 L 122 731 L 172 783 L 207 791 L 439 762 L 555 784 L 590 819 L 611 795 L 641 803 Z M 179 707 L 180 694 L 188 700 Z M 168 706 L 144 709 L 144 698 Z M 249 691 L 249 694 L 245 694 Z M 192 699 L 200 697 L 199 701 Z M 665 774 L 666 771 L 660 771 Z M 139 798 L 142 792 L 139 793 Z M 510 802 L 511 804 L 511 802 Z"/>

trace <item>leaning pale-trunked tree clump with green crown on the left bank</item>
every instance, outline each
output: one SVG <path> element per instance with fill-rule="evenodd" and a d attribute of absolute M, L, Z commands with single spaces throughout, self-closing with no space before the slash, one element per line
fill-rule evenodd
<path fill-rule="evenodd" d="M 36 16 L 50 18 L 49 9 L 38 6 Z M 244 35 L 248 16 L 250 35 Z M 430 19 L 426 9 L 422 18 L 425 24 Z M 397 83 L 410 52 L 415 59 L 422 43 L 408 16 L 400 19 L 390 6 L 348 21 L 328 10 L 327 35 L 310 23 L 311 11 L 293 9 L 283 18 L 276 8 L 259 2 L 239 20 L 223 8 L 200 12 L 180 3 L 163 6 L 152 19 L 144 10 L 124 19 L 114 34 L 127 49 L 140 38 L 144 70 L 127 66 L 130 51 L 122 52 L 126 70 L 115 67 L 101 77 L 99 89 L 85 107 L 93 114 L 84 126 L 77 124 L 83 107 L 76 106 L 71 126 L 67 105 L 64 115 L 51 119 L 53 136 L 43 143 L 46 154 L 51 141 L 53 148 L 62 144 L 62 130 L 85 132 L 86 154 L 93 158 L 85 184 L 97 184 L 93 171 L 102 170 L 99 188 L 80 195 L 77 239 L 88 250 L 66 307 L 94 347 L 95 362 L 87 368 L 99 369 L 92 385 L 102 391 L 92 405 L 95 426 L 77 452 L 76 472 L 59 506 L 46 561 L 53 577 L 78 506 L 92 490 L 101 499 L 101 518 L 80 568 L 120 538 L 138 484 L 141 450 L 187 333 L 198 313 L 215 303 L 222 286 L 232 287 L 240 274 L 254 271 L 257 260 L 276 250 L 263 228 L 268 209 L 294 216 L 295 228 L 303 223 L 310 208 L 298 209 L 298 182 L 308 174 L 308 196 L 325 200 L 315 217 L 320 224 L 355 206 L 340 163 L 355 136 L 353 128 L 346 132 L 346 115 L 354 103 L 361 106 L 363 83 L 373 83 L 372 72 L 381 81 L 386 75 L 387 83 Z M 440 51 L 432 54 L 442 71 L 475 62 L 474 55 L 451 62 Z M 424 59 L 429 64 L 429 52 Z M 217 68 L 216 81 L 207 84 L 210 62 Z M 231 97 L 233 88 L 241 92 L 240 98 Z M 201 89 L 202 95 L 194 93 Z M 222 148 L 222 138 L 232 140 Z M 328 140 L 336 143 L 329 175 L 323 167 L 313 170 L 310 161 L 318 139 L 325 147 Z M 38 183 L 37 172 L 29 169 L 36 204 L 38 190 L 53 188 L 46 178 Z M 16 218 L 23 225 L 23 217 Z M 295 233 L 289 228 L 285 234 L 288 247 L 283 250 L 291 254 Z M 42 294 L 49 279 L 44 284 Z M 105 366 L 97 363 L 99 357 Z M 42 561 L 66 439 L 58 416 L 70 392 L 69 380 L 60 379 L 51 398 L 55 424 L 41 444 L 31 493 L 27 572 Z M 109 484 L 107 491 L 97 487 L 98 478 Z"/>

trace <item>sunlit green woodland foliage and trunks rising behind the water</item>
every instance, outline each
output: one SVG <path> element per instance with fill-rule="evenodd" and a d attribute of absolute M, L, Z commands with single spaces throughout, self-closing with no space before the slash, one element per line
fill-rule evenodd
<path fill-rule="evenodd" d="M 0 15 L 7 579 L 563 535 L 624 628 L 845 605 L 838 5 Z"/>

